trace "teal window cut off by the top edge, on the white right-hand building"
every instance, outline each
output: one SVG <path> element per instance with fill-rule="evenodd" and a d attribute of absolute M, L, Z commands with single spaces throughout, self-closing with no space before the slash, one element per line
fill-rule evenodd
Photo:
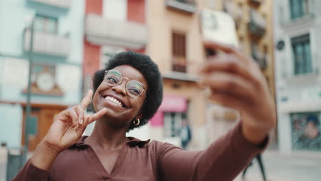
<path fill-rule="evenodd" d="M 309 14 L 309 0 L 290 0 L 290 10 L 292 19 Z"/>

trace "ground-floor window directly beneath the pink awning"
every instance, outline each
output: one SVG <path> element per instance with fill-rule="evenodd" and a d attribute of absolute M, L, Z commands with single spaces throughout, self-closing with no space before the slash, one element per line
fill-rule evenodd
<path fill-rule="evenodd" d="M 186 112 L 165 112 L 164 137 L 179 137 L 182 119 L 187 119 Z"/>

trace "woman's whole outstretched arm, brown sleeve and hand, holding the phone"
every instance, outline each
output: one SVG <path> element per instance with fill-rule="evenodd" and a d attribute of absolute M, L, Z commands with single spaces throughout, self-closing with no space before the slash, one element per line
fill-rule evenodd
<path fill-rule="evenodd" d="M 202 152 L 165 144 L 160 154 L 163 180 L 233 180 L 263 150 L 276 125 L 274 99 L 257 64 L 232 47 L 206 45 L 222 53 L 204 64 L 200 85 L 211 90 L 209 99 L 239 110 L 241 121 Z"/>

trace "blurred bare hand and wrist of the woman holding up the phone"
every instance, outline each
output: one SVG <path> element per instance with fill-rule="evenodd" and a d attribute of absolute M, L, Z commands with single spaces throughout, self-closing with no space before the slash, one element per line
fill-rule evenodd
<path fill-rule="evenodd" d="M 259 66 L 233 47 L 205 44 L 223 53 L 204 64 L 200 70 L 204 75 L 200 85 L 210 88 L 209 99 L 239 110 L 244 136 L 252 143 L 261 143 L 276 126 L 276 110 Z"/>

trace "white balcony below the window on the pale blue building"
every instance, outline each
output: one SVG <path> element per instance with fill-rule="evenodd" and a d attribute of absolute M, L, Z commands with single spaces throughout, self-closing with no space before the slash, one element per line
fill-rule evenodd
<path fill-rule="evenodd" d="M 23 49 L 29 51 L 30 31 L 26 30 L 24 34 Z M 58 36 L 56 34 L 47 34 L 43 32 L 34 32 L 33 52 L 50 56 L 67 56 L 70 49 L 69 37 Z"/>

